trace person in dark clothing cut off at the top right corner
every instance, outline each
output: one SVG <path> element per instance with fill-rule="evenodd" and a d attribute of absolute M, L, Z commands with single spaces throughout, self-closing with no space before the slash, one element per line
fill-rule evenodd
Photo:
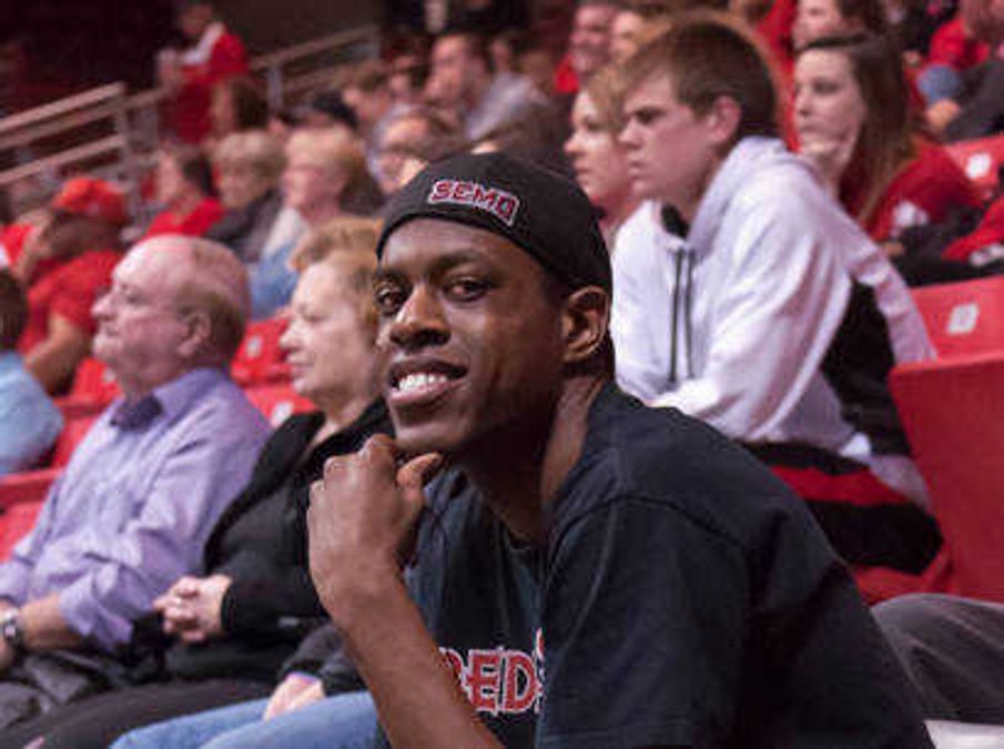
<path fill-rule="evenodd" d="M 962 74 L 957 94 L 927 108 L 927 123 L 950 141 L 984 138 L 1004 130 L 1004 3 L 964 0 L 963 23 L 992 50 L 990 58 Z"/>

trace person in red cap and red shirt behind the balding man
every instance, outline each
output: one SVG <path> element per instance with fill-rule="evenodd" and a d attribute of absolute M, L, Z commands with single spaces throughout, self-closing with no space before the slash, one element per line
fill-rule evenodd
<path fill-rule="evenodd" d="M 28 289 L 28 324 L 18 350 L 50 394 L 65 392 L 90 351 L 94 300 L 121 259 L 125 199 L 111 183 L 68 180 L 50 220 L 26 241 L 14 273 Z"/>

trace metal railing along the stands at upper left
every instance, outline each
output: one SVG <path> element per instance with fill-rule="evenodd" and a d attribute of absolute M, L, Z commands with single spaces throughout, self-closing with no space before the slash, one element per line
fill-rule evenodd
<path fill-rule="evenodd" d="M 251 73 L 276 112 L 329 85 L 337 65 L 377 49 L 376 27 L 359 27 L 257 55 Z M 110 83 L 0 119 L 0 191 L 17 210 L 48 196 L 65 175 L 88 171 L 122 184 L 135 209 L 140 173 L 161 143 L 168 95 L 163 89 L 130 95 L 123 83 Z"/>

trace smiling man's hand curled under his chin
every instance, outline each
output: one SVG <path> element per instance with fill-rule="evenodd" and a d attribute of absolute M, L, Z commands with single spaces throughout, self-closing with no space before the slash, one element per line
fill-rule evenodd
<path fill-rule="evenodd" d="M 398 468 L 400 457 L 391 437 L 376 435 L 359 452 L 328 459 L 311 487 L 311 576 L 336 625 L 412 554 L 423 482 L 443 458 L 419 455 Z"/>

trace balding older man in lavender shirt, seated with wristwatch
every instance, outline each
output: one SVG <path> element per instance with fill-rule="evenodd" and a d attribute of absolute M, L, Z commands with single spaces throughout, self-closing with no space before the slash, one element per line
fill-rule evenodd
<path fill-rule="evenodd" d="M 115 269 L 94 353 L 123 397 L 0 565 L 4 728 L 115 684 L 133 619 L 196 569 L 267 433 L 226 374 L 246 311 L 244 269 L 203 240 L 148 240 Z"/>

